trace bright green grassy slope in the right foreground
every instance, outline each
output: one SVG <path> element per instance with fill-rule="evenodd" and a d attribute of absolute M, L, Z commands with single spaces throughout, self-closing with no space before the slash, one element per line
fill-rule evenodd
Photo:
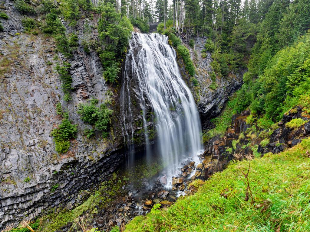
<path fill-rule="evenodd" d="M 241 161 L 214 174 L 196 194 L 169 208 L 135 217 L 125 231 L 310 231 L 307 150 L 310 138 L 282 153 L 251 161 L 254 205 L 244 200 L 238 165 L 246 170 L 248 161 Z M 227 199 L 220 196 L 225 188 L 231 189 Z"/>

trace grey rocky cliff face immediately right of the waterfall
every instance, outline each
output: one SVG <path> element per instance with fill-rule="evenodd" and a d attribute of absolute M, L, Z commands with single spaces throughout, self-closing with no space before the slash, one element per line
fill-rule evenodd
<path fill-rule="evenodd" d="M 198 86 L 195 87 L 193 84 L 189 84 L 192 89 L 193 95 L 197 101 L 198 111 L 201 115 L 201 121 L 217 116 L 228 97 L 234 93 L 242 85 L 242 75 L 243 71 L 233 74 L 230 73 L 228 77 L 217 77 L 216 84 L 218 87 L 213 90 L 210 88 L 212 80 L 210 74 L 212 72 L 211 67 L 211 54 L 207 52 L 206 58 L 203 58 L 201 51 L 205 48 L 206 37 L 196 37 L 195 49 L 189 47 L 186 42 L 184 44 L 187 46 L 191 58 L 196 66 L 197 74 L 195 78 L 198 80 Z M 186 75 L 186 71 L 182 61 L 179 61 L 181 71 L 184 74 L 184 78 L 190 83 L 190 78 Z"/>

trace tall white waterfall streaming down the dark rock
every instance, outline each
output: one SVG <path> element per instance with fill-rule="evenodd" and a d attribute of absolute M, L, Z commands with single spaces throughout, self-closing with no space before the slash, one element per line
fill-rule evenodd
<path fill-rule="evenodd" d="M 132 83 L 137 83 L 136 85 Z M 135 87 L 134 87 L 135 86 Z M 135 89 L 134 89 L 135 88 Z M 121 94 L 121 119 L 124 140 L 128 144 L 129 166 L 137 159 L 134 143 L 134 107 L 141 110 L 146 162 L 159 157 L 171 188 L 173 176 L 180 174 L 185 161 L 199 161 L 201 123 L 192 93 L 185 84 L 176 61 L 176 52 L 165 35 L 133 33 L 126 56 Z M 133 104 L 136 101 L 138 104 Z M 127 104 L 125 104 L 127 103 Z M 151 112 L 150 112 L 151 111 Z M 155 144 L 150 144 L 150 115 L 154 115 Z M 164 177 L 165 178 L 165 177 Z"/>

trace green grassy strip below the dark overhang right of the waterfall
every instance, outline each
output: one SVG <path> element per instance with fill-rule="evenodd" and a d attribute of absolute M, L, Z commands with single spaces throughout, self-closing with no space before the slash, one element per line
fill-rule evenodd
<path fill-rule="evenodd" d="M 204 131 L 203 133 L 204 142 L 210 140 L 212 137 L 216 135 L 224 135 L 226 128 L 231 124 L 232 115 L 235 113 L 233 111 L 233 108 L 236 103 L 236 100 L 237 98 L 235 95 L 230 97 L 222 113 L 218 117 L 212 118 L 210 120 L 215 124 L 215 128 L 209 131 Z"/>

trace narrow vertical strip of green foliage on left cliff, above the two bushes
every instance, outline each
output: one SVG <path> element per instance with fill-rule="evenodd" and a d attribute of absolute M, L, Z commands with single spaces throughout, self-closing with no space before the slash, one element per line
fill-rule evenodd
<path fill-rule="evenodd" d="M 71 65 L 68 62 L 63 62 L 63 66 L 60 66 L 59 63 L 56 64 L 56 71 L 59 74 L 59 79 L 62 81 L 61 88 L 64 91 L 64 100 L 70 101 L 70 92 L 72 90 L 72 77 L 69 75 L 69 68 Z"/>

